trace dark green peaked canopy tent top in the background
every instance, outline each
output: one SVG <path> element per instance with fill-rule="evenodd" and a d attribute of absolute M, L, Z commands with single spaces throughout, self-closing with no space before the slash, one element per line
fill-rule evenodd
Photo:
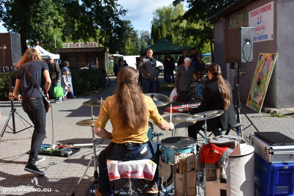
<path fill-rule="evenodd" d="M 183 50 L 190 51 L 190 47 L 178 46 L 168 41 L 165 37 L 161 37 L 153 46 L 142 49 L 140 54 L 146 55 L 149 48 L 153 50 L 153 55 L 183 54 Z"/>

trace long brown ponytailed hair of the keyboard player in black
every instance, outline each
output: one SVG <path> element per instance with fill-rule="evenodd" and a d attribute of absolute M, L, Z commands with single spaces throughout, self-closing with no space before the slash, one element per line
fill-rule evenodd
<path fill-rule="evenodd" d="M 218 84 L 218 89 L 220 91 L 221 97 L 223 99 L 223 107 L 225 110 L 227 110 L 231 104 L 230 102 L 230 89 L 228 87 L 228 84 L 225 82 L 221 75 L 220 71 L 220 65 L 217 63 L 213 63 L 208 68 L 209 72 L 213 75 L 213 77 L 216 80 L 216 83 Z"/>

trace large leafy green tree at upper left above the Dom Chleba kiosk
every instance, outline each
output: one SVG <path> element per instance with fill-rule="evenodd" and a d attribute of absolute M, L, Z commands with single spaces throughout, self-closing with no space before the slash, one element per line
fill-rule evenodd
<path fill-rule="evenodd" d="M 110 52 L 116 52 L 115 30 L 120 27 L 119 16 L 126 10 L 117 0 L 2 0 L 0 21 L 4 27 L 21 35 L 21 49 L 32 45 L 45 46 L 54 52 L 65 40 L 97 40 Z"/>

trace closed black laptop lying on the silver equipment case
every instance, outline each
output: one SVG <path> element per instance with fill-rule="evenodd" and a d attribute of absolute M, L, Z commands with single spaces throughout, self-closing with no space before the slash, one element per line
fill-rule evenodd
<path fill-rule="evenodd" d="M 254 134 L 271 146 L 294 145 L 294 139 L 280 132 L 254 132 Z"/>

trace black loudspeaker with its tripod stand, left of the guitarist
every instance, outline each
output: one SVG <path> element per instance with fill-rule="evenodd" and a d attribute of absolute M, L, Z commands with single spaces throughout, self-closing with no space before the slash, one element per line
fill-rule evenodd
<path fill-rule="evenodd" d="M 9 74 L 9 93 L 13 92 L 14 87 L 12 87 L 12 82 L 11 82 L 11 66 L 15 66 L 17 62 L 21 59 L 21 43 L 20 43 L 20 34 L 19 33 L 0 33 L 0 66 L 4 67 L 4 70 L 6 67 L 8 67 L 8 74 Z M 3 61 L 2 61 L 3 59 Z M 8 122 L 10 118 L 12 117 L 12 125 L 13 127 L 9 127 L 13 132 L 8 132 L 8 133 L 13 133 L 16 134 L 18 132 L 21 132 L 25 129 L 28 129 L 30 127 L 34 127 L 33 124 L 31 124 L 29 121 L 27 121 L 23 116 L 21 116 L 15 109 L 14 103 L 13 103 L 13 98 L 11 98 L 11 111 L 9 114 L 9 117 L 4 125 L 4 128 L 2 129 L 2 132 L 0 134 L 0 138 L 4 134 L 6 127 L 8 126 Z M 24 119 L 27 123 L 30 124 L 29 127 L 26 127 L 25 129 L 22 129 L 18 132 L 16 132 L 15 128 L 15 118 L 14 118 L 14 113 L 18 114 L 19 117 Z"/>

